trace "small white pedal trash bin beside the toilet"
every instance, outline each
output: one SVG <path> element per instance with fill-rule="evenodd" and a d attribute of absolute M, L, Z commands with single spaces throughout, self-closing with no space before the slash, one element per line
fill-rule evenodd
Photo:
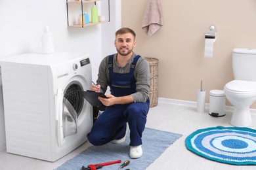
<path fill-rule="evenodd" d="M 211 90 L 209 99 L 209 114 L 219 117 L 225 116 L 226 97 L 223 90 Z"/>

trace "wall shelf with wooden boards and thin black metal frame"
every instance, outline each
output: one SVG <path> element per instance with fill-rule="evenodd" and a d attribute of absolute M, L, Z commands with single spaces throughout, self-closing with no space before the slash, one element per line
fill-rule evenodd
<path fill-rule="evenodd" d="M 107 22 L 110 22 L 110 0 L 107 0 L 108 1 L 108 20 L 106 21 L 102 21 L 102 22 L 96 22 L 96 23 L 92 23 L 92 22 L 89 22 L 89 24 L 70 24 L 70 5 L 80 5 L 81 6 L 81 14 L 83 14 L 83 12 L 85 12 L 84 10 L 84 7 L 83 5 L 87 5 L 89 3 L 96 3 L 96 2 L 100 2 L 100 1 L 106 1 L 106 0 L 92 0 L 92 1 L 87 1 L 87 0 L 79 0 L 79 1 L 75 1 L 75 0 L 66 0 L 66 7 L 67 7 L 67 20 L 68 20 L 68 27 L 88 27 L 88 26 L 92 26 L 92 25 L 97 25 L 97 24 L 104 24 L 104 23 L 107 23 Z M 78 7 L 77 7 L 78 8 Z M 87 12 L 88 13 L 88 12 Z M 78 17 L 77 16 L 77 20 L 78 20 Z M 73 20 L 74 20 L 74 17 L 73 17 Z"/>

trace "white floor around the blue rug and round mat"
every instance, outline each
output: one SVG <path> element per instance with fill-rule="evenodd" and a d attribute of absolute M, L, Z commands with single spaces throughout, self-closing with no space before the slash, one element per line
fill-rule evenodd
<path fill-rule="evenodd" d="M 230 126 L 232 113 L 226 112 L 226 116 L 215 118 L 209 116 L 207 110 L 204 113 L 196 112 L 196 107 L 175 105 L 170 103 L 159 102 L 157 107 L 150 109 L 148 113 L 148 122 L 146 127 L 180 133 L 183 136 L 173 143 L 158 158 L 148 170 L 158 169 L 215 169 L 215 170 L 249 170 L 256 169 L 256 166 L 236 166 L 215 161 L 207 160 L 188 151 L 184 144 L 184 140 L 190 133 L 196 129 L 214 126 Z M 253 124 L 250 128 L 256 129 L 256 114 L 252 114 Z M 70 160 L 88 146 L 88 142 L 79 148 L 64 156 L 53 163 L 48 161 L 35 160 L 24 156 L 8 154 L 6 150 L 0 152 L 0 169 L 54 169 L 67 160 Z M 104 167 L 102 168 L 104 170 Z M 135 169 L 133 169 L 135 170 Z M 140 169 L 136 169 L 140 170 Z"/>

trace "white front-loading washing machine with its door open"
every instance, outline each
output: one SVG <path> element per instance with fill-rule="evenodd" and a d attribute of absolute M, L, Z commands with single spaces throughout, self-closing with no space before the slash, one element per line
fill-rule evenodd
<path fill-rule="evenodd" d="M 56 161 L 87 141 L 93 108 L 86 54 L 21 54 L 1 59 L 7 152 Z"/>

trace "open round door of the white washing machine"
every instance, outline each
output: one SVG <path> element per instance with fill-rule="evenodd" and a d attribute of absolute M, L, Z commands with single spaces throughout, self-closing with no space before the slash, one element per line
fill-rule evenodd
<path fill-rule="evenodd" d="M 77 133 L 77 112 L 63 94 L 63 90 L 59 88 L 56 95 L 58 146 L 64 145 L 65 137 Z"/>

